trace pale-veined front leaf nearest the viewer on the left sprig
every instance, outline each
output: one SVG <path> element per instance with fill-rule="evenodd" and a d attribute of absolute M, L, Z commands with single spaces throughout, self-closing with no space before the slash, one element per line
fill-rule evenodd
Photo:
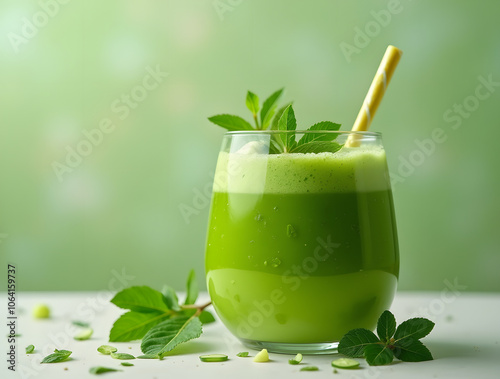
<path fill-rule="evenodd" d="M 141 350 L 144 354 L 157 354 L 161 358 L 180 343 L 198 338 L 201 333 L 201 322 L 194 315 L 170 318 L 144 336 Z"/>

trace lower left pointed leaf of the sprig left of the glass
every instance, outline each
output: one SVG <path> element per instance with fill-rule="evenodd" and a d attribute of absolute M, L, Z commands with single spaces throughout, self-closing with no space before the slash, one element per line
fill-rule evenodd
<path fill-rule="evenodd" d="M 169 315 L 160 312 L 127 312 L 115 321 L 109 332 L 110 342 L 128 342 L 141 339 L 153 326 Z"/>

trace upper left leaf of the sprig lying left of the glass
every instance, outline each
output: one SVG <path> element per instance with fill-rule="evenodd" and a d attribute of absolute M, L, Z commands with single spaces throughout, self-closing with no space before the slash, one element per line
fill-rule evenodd
<path fill-rule="evenodd" d="M 161 292 L 148 286 L 134 286 L 118 292 L 111 302 L 136 312 L 168 312 Z"/>

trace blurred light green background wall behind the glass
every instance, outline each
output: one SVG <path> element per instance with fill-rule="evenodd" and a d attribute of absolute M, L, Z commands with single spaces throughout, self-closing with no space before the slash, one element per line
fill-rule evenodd
<path fill-rule="evenodd" d="M 3 1 L 0 275 L 8 262 L 23 290 L 181 289 L 195 268 L 202 285 L 223 134 L 207 116 L 286 87 L 299 125 L 347 130 L 393 44 L 371 129 L 395 180 L 399 288 L 499 291 L 500 86 L 476 95 L 479 78 L 500 82 L 499 14 L 494 0 Z M 168 76 L 144 93 L 146 67 Z M 112 104 L 131 91 L 145 98 L 122 120 Z M 114 130 L 59 181 L 54 162 L 106 118 Z"/>

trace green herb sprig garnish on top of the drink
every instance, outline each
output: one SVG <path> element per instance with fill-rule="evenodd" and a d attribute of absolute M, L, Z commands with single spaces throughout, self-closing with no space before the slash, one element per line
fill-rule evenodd
<path fill-rule="evenodd" d="M 216 125 L 222 126 L 229 131 L 245 131 L 245 130 L 279 130 L 288 131 L 289 133 L 272 136 L 269 153 L 320 153 L 332 152 L 340 150 L 343 145 L 333 142 L 337 137 L 334 133 L 304 133 L 299 141 L 295 140 L 295 130 L 297 129 L 297 120 L 293 111 L 292 104 L 287 104 L 276 111 L 278 101 L 283 94 L 283 89 L 274 92 L 263 103 L 262 108 L 259 105 L 259 97 L 253 92 L 248 91 L 246 97 L 247 108 L 252 113 L 255 123 L 253 127 L 245 119 L 229 115 L 220 114 L 209 117 L 209 121 Z M 260 110 L 260 122 L 259 122 Z M 273 118 L 274 116 L 274 118 Z M 312 125 L 307 130 L 310 131 L 337 131 L 340 129 L 340 124 L 330 121 L 322 121 Z"/>

